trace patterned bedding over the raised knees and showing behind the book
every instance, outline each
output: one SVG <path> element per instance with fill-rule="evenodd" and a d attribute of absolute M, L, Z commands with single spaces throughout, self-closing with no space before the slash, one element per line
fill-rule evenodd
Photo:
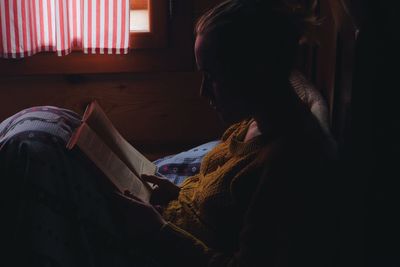
<path fill-rule="evenodd" d="M 0 123 L 2 247 L 18 246 L 21 266 L 159 266 L 125 243 L 101 189 L 102 173 L 78 150 L 65 149 L 79 124 L 78 114 L 53 106 Z M 216 143 L 156 160 L 159 173 L 181 183 Z"/>

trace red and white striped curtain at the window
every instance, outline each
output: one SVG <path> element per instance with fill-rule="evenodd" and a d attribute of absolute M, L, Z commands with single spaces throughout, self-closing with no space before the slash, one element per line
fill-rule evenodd
<path fill-rule="evenodd" d="M 0 57 L 126 54 L 129 0 L 0 0 Z"/>

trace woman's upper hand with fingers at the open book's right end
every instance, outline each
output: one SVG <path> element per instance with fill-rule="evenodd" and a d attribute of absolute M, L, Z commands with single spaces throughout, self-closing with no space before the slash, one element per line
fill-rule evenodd
<path fill-rule="evenodd" d="M 165 206 L 171 200 L 178 198 L 179 191 L 181 190 L 180 187 L 170 182 L 167 178 L 146 174 L 143 174 L 141 177 L 146 182 L 156 185 L 151 195 L 151 204 Z"/>

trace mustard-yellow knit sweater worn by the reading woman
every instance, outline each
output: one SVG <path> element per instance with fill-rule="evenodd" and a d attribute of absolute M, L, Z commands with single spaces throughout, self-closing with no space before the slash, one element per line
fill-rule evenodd
<path fill-rule="evenodd" d="M 332 266 L 335 154 L 310 113 L 277 135 L 243 142 L 233 125 L 166 208 L 150 238 L 165 266 Z"/>

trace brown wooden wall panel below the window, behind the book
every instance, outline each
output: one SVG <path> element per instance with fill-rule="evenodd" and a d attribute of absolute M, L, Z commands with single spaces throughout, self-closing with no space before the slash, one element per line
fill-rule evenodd
<path fill-rule="evenodd" d="M 148 153 L 178 152 L 222 133 L 216 114 L 199 96 L 195 72 L 4 77 L 0 82 L 0 121 L 37 105 L 82 114 L 97 99 L 121 134 Z"/>

